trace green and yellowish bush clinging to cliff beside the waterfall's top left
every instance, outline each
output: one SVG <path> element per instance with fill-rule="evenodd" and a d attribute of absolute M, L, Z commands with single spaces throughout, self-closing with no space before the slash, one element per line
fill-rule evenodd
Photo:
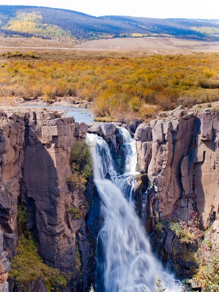
<path fill-rule="evenodd" d="M 68 177 L 68 184 L 72 188 L 84 189 L 87 179 L 92 174 L 91 150 L 84 141 L 78 141 L 72 151 L 70 164 L 72 174 Z"/>

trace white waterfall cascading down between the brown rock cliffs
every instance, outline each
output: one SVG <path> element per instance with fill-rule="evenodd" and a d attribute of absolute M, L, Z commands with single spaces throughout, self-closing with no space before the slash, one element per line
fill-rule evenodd
<path fill-rule="evenodd" d="M 121 132 L 126 133 L 123 129 Z M 174 277 L 153 256 L 133 202 L 127 201 L 121 190 L 105 179 L 107 172 L 111 177 L 116 176 L 106 141 L 95 134 L 87 134 L 86 141 L 91 145 L 94 182 L 102 200 L 101 211 L 104 217 L 97 239 L 97 246 L 101 245 L 101 255 L 97 258 L 100 267 L 98 274 L 103 283 L 102 287 L 96 287 L 96 291 L 154 292 L 155 281 L 161 274 L 166 292 L 180 292 L 181 288 L 175 284 Z M 124 141 L 127 143 L 125 137 Z M 132 162 L 131 152 L 128 154 L 127 151 L 127 155 L 130 157 L 127 159 L 126 170 L 134 173 L 136 158 Z"/>

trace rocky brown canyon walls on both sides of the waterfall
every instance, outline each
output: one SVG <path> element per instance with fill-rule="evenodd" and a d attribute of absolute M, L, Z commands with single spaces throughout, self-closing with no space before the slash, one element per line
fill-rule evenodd
<path fill-rule="evenodd" d="M 152 250 L 165 267 L 183 279 L 194 275 L 198 250 L 206 264 L 212 249 L 219 253 L 219 113 L 211 108 L 182 106 L 150 123 L 75 123 L 54 111 L 0 113 L 0 292 L 18 291 L 9 278 L 17 255 L 18 205 L 28 213 L 28 230 L 39 256 L 67 276 L 65 292 L 87 292 L 96 281 L 95 251 L 104 218 L 101 198 L 89 177 L 86 189 L 71 189 L 71 151 L 87 133 L 107 142 L 118 174 L 125 173 L 125 128 L 136 141 L 136 185 L 129 180 L 135 209 L 150 234 Z M 108 177 L 110 179 L 110 177 Z M 81 210 L 72 216 L 71 208 Z M 200 216 L 203 241 L 181 242 L 171 220 Z M 160 224 L 160 225 L 159 225 Z M 162 224 L 162 225 L 161 225 Z M 162 226 L 162 230 L 158 228 Z M 198 232 L 198 231 L 197 231 Z M 144 237 L 144 234 L 143 234 Z M 204 246 L 204 249 L 201 248 Z M 187 255 L 185 255 L 185 250 Z M 204 250 L 204 252 L 203 252 Z M 78 265 L 79 263 L 79 265 Z M 29 292 L 46 292 L 43 279 Z M 36 288 L 36 287 L 41 288 Z M 62 289 L 58 287 L 58 289 Z M 61 290 L 62 291 L 62 290 Z"/>

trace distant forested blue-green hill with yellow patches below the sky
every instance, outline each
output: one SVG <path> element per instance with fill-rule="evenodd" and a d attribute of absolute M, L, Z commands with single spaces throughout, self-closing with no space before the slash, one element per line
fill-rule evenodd
<path fill-rule="evenodd" d="M 94 17 L 37 6 L 0 5 L 0 35 L 41 37 L 70 43 L 112 37 L 180 37 L 219 40 L 219 20 Z M 215 36 L 214 36 L 215 35 Z"/>

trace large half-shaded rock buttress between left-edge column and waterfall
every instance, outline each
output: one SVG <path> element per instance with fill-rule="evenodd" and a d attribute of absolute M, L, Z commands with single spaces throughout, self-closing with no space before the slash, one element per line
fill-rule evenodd
<path fill-rule="evenodd" d="M 66 183 L 69 161 L 86 132 L 85 124 L 56 118 L 54 112 L 32 112 L 26 125 L 22 193 L 34 201 L 39 254 L 62 271 L 73 270 L 77 231 L 68 213 L 75 197 Z"/>

